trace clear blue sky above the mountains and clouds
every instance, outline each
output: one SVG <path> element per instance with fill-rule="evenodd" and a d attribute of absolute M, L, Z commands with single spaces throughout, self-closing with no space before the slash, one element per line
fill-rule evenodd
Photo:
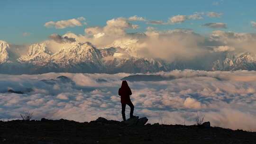
<path fill-rule="evenodd" d="M 133 21 L 139 25 L 130 32 L 143 32 L 146 27 L 159 30 L 189 28 L 207 35 L 213 30 L 255 33 L 251 21 L 256 21 L 256 1 L 246 0 L 1 0 L 0 39 L 12 44 L 30 44 L 46 40 L 53 33 L 66 32 L 84 35 L 86 27 L 105 26 L 112 18 L 128 18 L 134 15 L 148 20 L 168 21 L 176 15 L 192 15 L 195 12 L 222 13 L 220 18 L 186 20 L 168 25 L 150 25 Z M 45 27 L 49 21 L 86 18 L 87 25 L 63 29 Z M 227 28 L 202 27 L 205 23 L 225 23 Z M 27 33 L 27 36 L 23 36 Z"/>

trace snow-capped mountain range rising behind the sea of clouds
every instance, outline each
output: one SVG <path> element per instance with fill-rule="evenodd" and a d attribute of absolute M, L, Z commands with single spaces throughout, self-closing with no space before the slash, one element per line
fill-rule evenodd
<path fill-rule="evenodd" d="M 16 57 L 11 44 L 0 41 L 0 73 L 36 74 L 45 72 L 159 72 L 174 69 L 207 71 L 256 70 L 256 61 L 249 53 L 240 55 L 223 53 L 210 61 L 200 59 L 174 61 L 139 57 L 130 46 L 137 40 L 119 41 L 106 48 L 96 48 L 90 42 L 73 42 L 68 47 L 52 53 L 47 42 L 30 45 L 26 55 Z"/>

